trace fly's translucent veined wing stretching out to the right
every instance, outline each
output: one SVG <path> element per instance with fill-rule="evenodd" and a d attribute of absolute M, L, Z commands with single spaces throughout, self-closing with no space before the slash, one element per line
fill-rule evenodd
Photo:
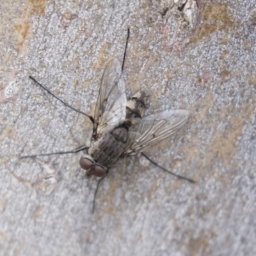
<path fill-rule="evenodd" d="M 168 110 L 142 118 L 138 125 L 129 129 L 125 156 L 141 153 L 168 138 L 179 131 L 188 116 L 186 110 Z"/>

